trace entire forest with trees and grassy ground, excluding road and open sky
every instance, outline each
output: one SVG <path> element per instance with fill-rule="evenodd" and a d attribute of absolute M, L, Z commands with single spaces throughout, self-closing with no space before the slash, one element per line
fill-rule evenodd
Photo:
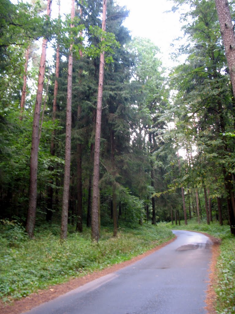
<path fill-rule="evenodd" d="M 235 2 L 171 2 L 168 68 L 128 3 L 0 0 L 0 311 L 181 228 L 221 239 L 235 313 Z"/>

